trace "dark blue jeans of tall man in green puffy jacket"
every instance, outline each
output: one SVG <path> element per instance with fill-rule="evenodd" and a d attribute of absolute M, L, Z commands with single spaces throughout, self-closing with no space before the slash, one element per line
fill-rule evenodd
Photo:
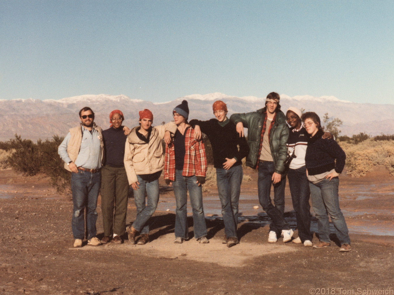
<path fill-rule="evenodd" d="M 284 187 L 286 186 L 286 178 L 282 177 L 279 183 L 273 184 L 273 201 L 271 201 L 271 184 L 272 175 L 275 172 L 273 162 L 260 161 L 258 164 L 258 200 L 263 210 L 267 213 L 272 222 L 269 225 L 269 231 L 280 234 L 282 230 L 289 230 L 290 225 L 284 219 Z"/>

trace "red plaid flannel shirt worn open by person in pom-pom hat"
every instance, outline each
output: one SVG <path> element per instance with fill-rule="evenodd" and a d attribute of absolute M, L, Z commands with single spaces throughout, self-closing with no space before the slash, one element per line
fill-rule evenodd
<path fill-rule="evenodd" d="M 189 127 L 185 134 L 185 159 L 183 164 L 182 175 L 206 176 L 206 155 L 204 142 L 194 139 L 194 129 Z M 164 179 L 175 181 L 175 150 L 171 142 L 165 145 L 164 156 Z"/>

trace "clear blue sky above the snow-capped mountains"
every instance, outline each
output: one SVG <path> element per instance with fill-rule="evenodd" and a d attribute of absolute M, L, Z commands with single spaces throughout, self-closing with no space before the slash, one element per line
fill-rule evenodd
<path fill-rule="evenodd" d="M 0 99 L 393 103 L 393 1 L 0 0 Z"/>

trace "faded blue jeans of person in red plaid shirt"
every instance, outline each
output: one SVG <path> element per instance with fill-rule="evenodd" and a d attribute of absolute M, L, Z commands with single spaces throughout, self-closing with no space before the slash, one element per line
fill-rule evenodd
<path fill-rule="evenodd" d="M 187 192 L 190 195 L 190 204 L 193 209 L 193 229 L 196 239 L 206 236 L 206 223 L 203 208 L 203 191 L 198 186 L 197 177 L 184 177 L 182 170 L 175 170 L 174 188 L 177 210 L 175 211 L 175 237 L 187 240 L 189 238 L 187 221 Z"/>

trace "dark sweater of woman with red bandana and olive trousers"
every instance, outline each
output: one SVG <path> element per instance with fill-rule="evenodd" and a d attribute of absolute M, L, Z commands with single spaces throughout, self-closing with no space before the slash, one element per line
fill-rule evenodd
<path fill-rule="evenodd" d="M 111 167 L 125 167 L 123 158 L 125 157 L 126 138 L 123 126 L 115 129 L 108 128 L 102 132 L 104 138 L 105 164 Z"/>

